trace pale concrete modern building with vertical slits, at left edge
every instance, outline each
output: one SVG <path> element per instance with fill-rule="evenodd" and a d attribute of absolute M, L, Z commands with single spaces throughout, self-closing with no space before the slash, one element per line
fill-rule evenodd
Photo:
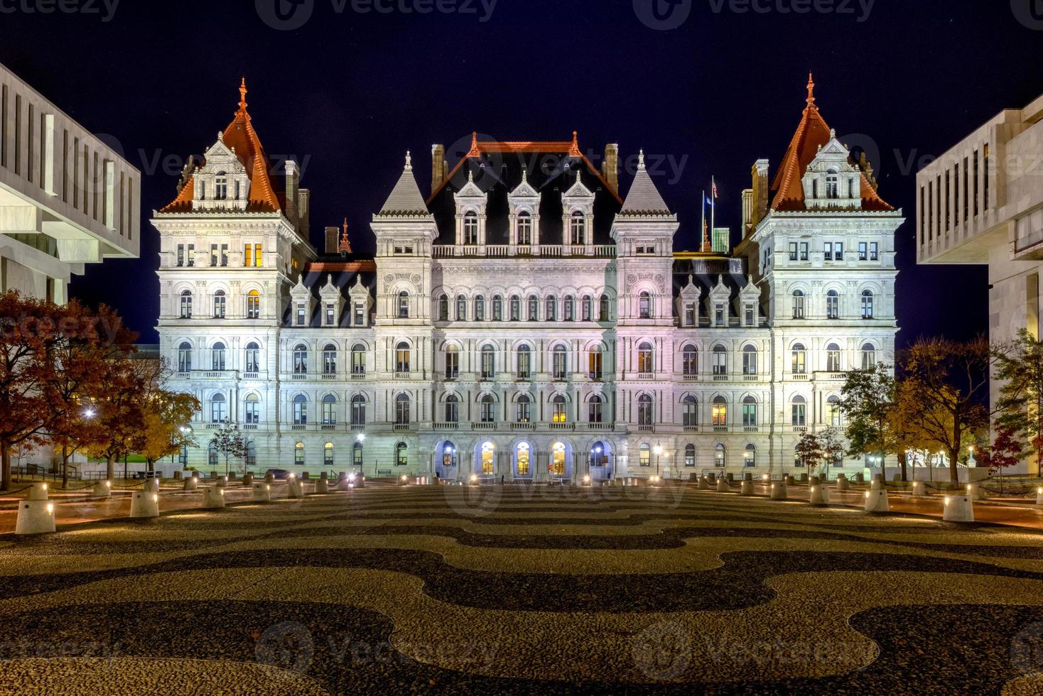
<path fill-rule="evenodd" d="M 0 292 L 65 302 L 87 264 L 135 258 L 141 175 L 0 65 Z"/>

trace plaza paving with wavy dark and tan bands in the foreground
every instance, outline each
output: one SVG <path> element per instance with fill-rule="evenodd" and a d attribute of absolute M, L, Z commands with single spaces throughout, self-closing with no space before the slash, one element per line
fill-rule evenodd
<path fill-rule="evenodd" d="M 0 573 L 2 693 L 1043 690 L 1038 535 L 689 486 L 370 487 Z"/>

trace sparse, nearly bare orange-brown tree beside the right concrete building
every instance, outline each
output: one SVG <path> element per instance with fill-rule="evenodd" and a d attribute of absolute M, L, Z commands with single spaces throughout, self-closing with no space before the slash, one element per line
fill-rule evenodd
<path fill-rule="evenodd" d="M 949 457 L 949 477 L 960 486 L 959 459 L 965 439 L 988 427 L 989 370 L 993 351 L 977 338 L 966 343 L 919 339 L 902 355 L 901 371 L 922 401 L 923 436 Z"/>

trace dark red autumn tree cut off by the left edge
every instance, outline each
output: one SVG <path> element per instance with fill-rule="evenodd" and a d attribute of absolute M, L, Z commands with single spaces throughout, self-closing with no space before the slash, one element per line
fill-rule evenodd
<path fill-rule="evenodd" d="M 0 295 L 0 489 L 11 489 L 13 451 L 43 445 L 47 401 L 41 392 L 47 356 L 58 340 L 53 302 Z"/>

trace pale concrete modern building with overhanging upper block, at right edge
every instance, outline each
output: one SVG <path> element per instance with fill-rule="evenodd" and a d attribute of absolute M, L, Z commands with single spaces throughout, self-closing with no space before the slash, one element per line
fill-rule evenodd
<path fill-rule="evenodd" d="M 1043 96 L 1004 109 L 917 175 L 917 262 L 988 265 L 994 344 L 1021 329 L 1040 335 L 1041 121 Z M 999 384 L 991 389 L 995 399 Z"/>

